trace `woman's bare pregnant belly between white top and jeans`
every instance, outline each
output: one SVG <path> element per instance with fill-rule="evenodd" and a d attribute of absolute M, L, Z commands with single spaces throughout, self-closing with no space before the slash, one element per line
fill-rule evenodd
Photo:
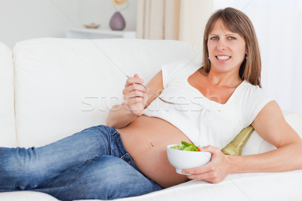
<path fill-rule="evenodd" d="M 167 156 L 167 145 L 191 142 L 175 126 L 165 120 L 142 115 L 117 131 L 125 149 L 145 176 L 165 188 L 187 180 L 185 175 L 176 173 Z"/>

